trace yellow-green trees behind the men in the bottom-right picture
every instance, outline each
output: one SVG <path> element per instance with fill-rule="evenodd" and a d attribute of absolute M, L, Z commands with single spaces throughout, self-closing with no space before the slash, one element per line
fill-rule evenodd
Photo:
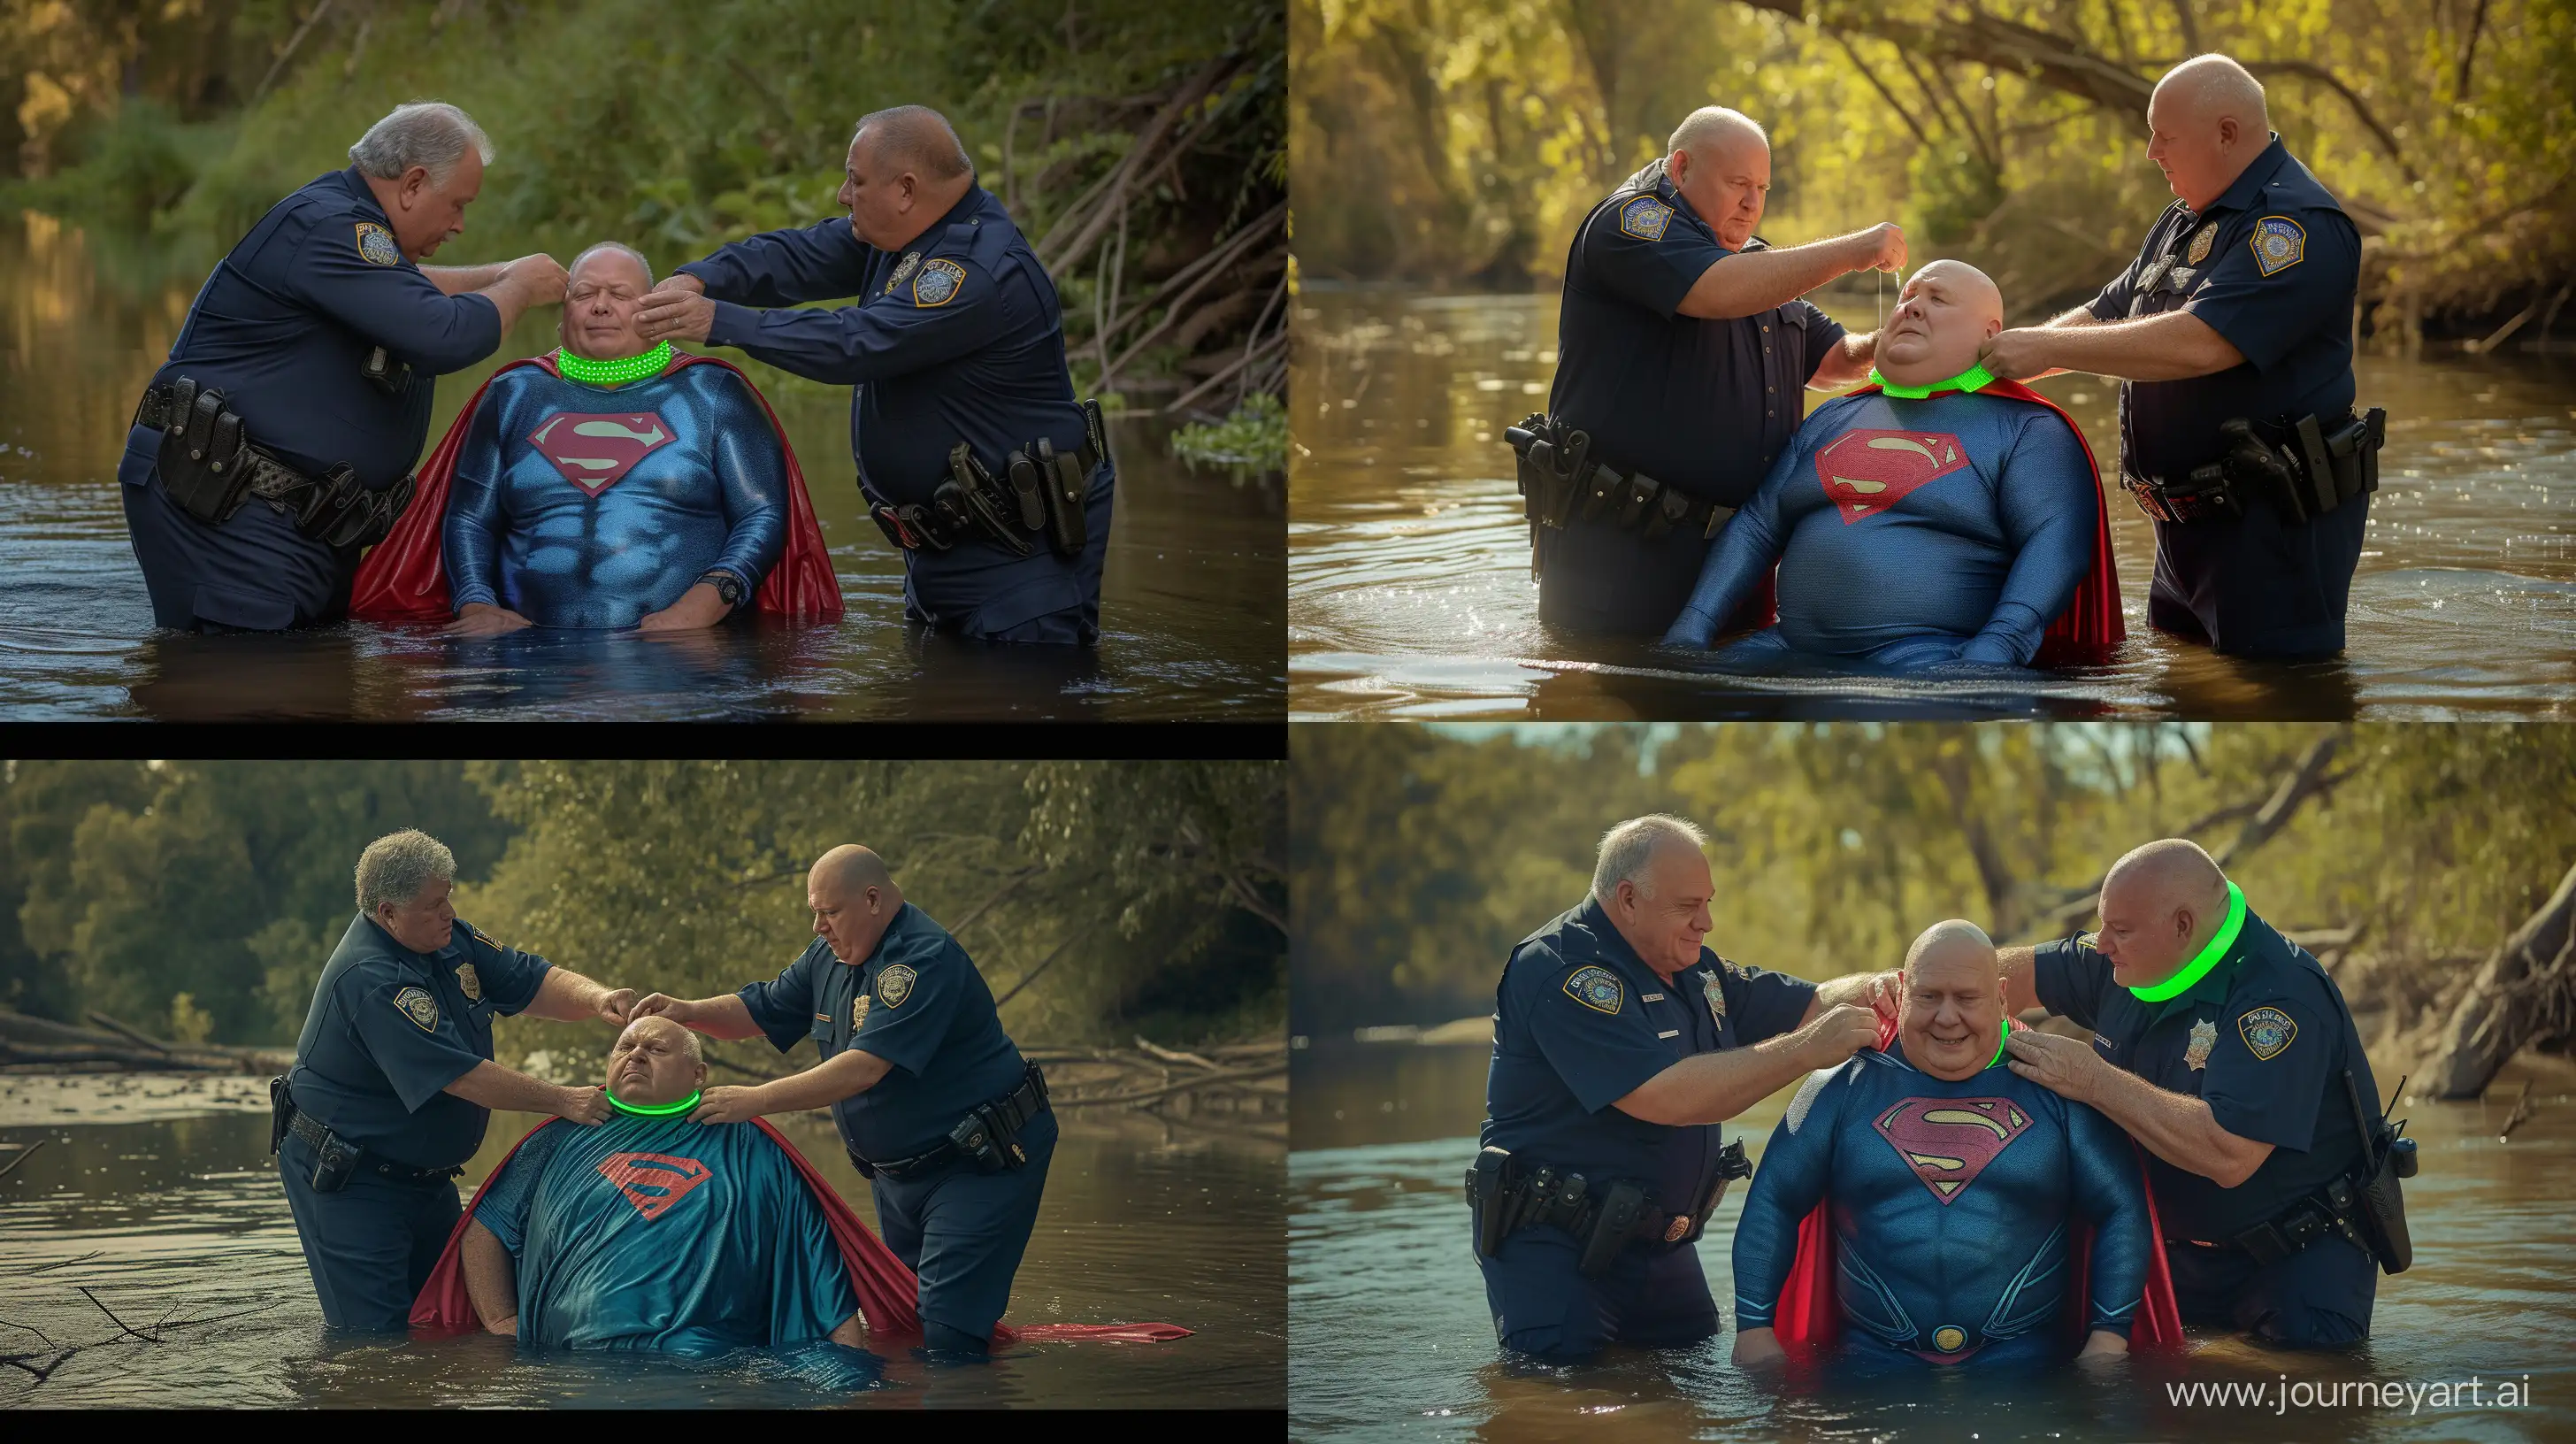
<path fill-rule="evenodd" d="M 1492 1006 L 1512 944 L 1577 905 L 1600 833 L 1710 833 L 1710 946 L 1808 977 L 1893 967 L 1937 918 L 2048 931 L 2130 846 L 2246 825 L 2326 727 L 1659 727 L 1296 735 L 1298 1031 Z M 2576 859 L 2561 727 L 2360 727 L 2334 786 L 2231 872 L 2293 928 L 2396 957 L 2483 954 Z"/>

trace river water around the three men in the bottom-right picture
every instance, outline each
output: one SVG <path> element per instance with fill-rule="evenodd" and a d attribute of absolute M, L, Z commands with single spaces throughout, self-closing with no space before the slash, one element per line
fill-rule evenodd
<path fill-rule="evenodd" d="M 2514 1129 L 2512 1104 L 2409 1104 L 2424 1171 L 2406 1184 L 2416 1261 L 2383 1276 L 2372 1336 L 2342 1354 L 2277 1354 L 2192 1331 L 2187 1361 L 2133 1359 L 2009 1387 L 1965 1369 L 1899 1382 L 1754 1385 L 1731 1333 L 1695 1349 L 1613 1349 L 1587 1367 L 1507 1364 L 1468 1253 L 1461 1176 L 1484 1117 L 1481 1047 L 1298 1052 L 1288 1155 L 1288 1400 L 1296 1439 L 2568 1439 L 2576 1436 L 2576 1098 L 2553 1070 Z M 2519 1065 L 2517 1065 L 2519 1068 Z M 2512 1093 L 2512 1088 L 2506 1088 Z M 1790 1091 L 1741 1119 L 1759 1158 Z M 1739 1129 L 1731 1124 L 1728 1137 Z M 1700 1266 L 1734 1315 L 1728 1189 Z M 2530 1380 L 2522 1408 L 2166 1403 L 2166 1382 L 2439 1385 Z M 2347 1390 L 2347 1400 L 2352 1390 Z M 2432 1395 L 2419 1395 L 2427 1400 Z"/>

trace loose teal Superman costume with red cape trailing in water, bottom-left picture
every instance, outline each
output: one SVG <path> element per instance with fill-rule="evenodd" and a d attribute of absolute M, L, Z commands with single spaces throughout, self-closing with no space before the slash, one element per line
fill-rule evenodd
<path fill-rule="evenodd" d="M 518 1261 L 520 1338 L 711 1354 L 824 1338 L 853 1307 L 876 1343 L 922 1331 L 912 1269 L 765 1119 L 546 1119 L 492 1168 L 412 1302 L 412 1328 L 482 1328 L 461 1243 L 482 1220 Z M 1170 1323 L 1036 1323 L 994 1343 L 1162 1343 Z"/>

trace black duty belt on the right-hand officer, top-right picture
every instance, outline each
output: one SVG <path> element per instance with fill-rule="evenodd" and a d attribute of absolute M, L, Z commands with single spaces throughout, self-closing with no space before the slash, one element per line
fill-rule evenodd
<path fill-rule="evenodd" d="M 2218 438 L 2223 446 L 2218 459 L 2192 467 L 2184 477 L 2151 477 L 2123 467 L 2120 485 L 2138 498 L 2138 511 L 2169 523 L 2236 518 L 2251 498 L 2272 503 L 2285 521 L 2316 521 L 2352 498 L 2380 490 L 2388 413 L 2370 407 L 2336 420 L 2303 415 L 2267 425 L 2239 415 L 2218 423 Z"/>

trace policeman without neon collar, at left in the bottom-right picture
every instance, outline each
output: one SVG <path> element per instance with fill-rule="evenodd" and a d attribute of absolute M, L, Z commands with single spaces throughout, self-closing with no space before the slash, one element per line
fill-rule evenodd
<path fill-rule="evenodd" d="M 1700 946 L 1703 841 L 1664 815 L 1610 828 L 1592 897 L 1502 970 L 1468 1204 L 1504 1349 L 1564 1361 L 1713 1336 L 1692 1240 L 1749 1173 L 1718 1122 L 1878 1047 L 1875 977 L 1819 988 Z"/>

